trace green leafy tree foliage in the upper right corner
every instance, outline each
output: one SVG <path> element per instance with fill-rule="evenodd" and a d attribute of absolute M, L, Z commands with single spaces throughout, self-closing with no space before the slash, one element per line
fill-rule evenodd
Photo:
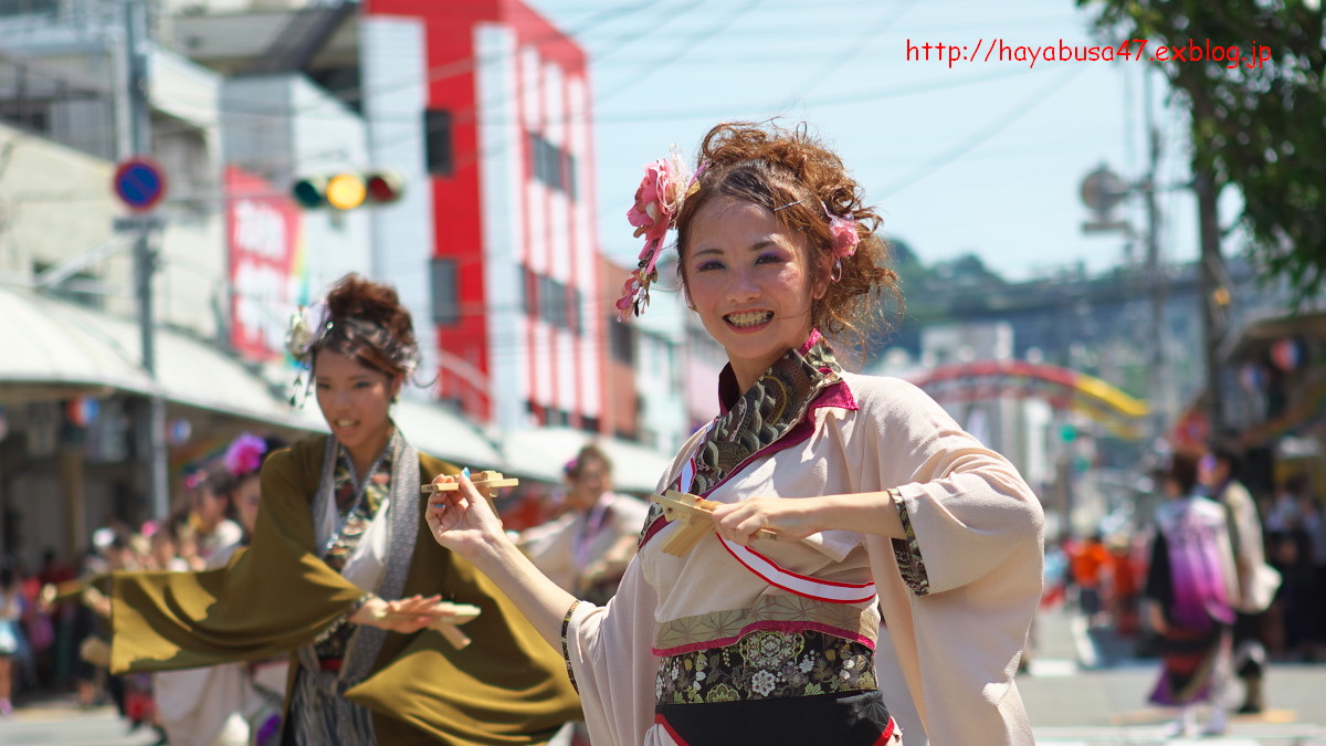
<path fill-rule="evenodd" d="M 1147 40 L 1192 114 L 1192 173 L 1209 203 L 1242 194 L 1252 260 L 1307 300 L 1326 273 L 1326 38 L 1319 0 L 1077 0 L 1107 42 Z M 1208 45 L 1209 40 L 1209 45 Z M 1160 52 L 1160 45 L 1168 48 Z M 1208 49 L 1221 46 L 1223 61 Z M 1132 62 L 1140 44 L 1131 42 Z M 1238 46 L 1231 64 L 1228 50 Z M 1200 52 L 1199 52 L 1200 50 Z M 1160 54 L 1156 54 L 1160 52 Z M 1179 54 L 1175 54 L 1177 52 Z M 1195 61 L 1197 56 L 1201 61 Z M 1152 57 L 1166 60 L 1152 60 Z M 1204 216 L 1209 219 L 1209 216 Z M 1232 226 L 1223 227 L 1228 231 Z"/>

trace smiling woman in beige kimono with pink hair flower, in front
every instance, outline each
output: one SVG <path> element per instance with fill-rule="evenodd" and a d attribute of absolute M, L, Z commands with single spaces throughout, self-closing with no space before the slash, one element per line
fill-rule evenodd
<path fill-rule="evenodd" d="M 686 299 L 728 353 L 717 415 L 659 482 L 720 503 L 712 532 L 666 554 L 682 527 L 655 507 L 606 607 L 540 576 L 465 479 L 427 511 L 438 542 L 562 649 L 595 746 L 898 743 L 894 702 L 915 742 L 1032 743 L 1013 673 L 1041 507 L 919 389 L 837 362 L 827 336 L 896 292 L 838 157 L 804 130 L 719 125 L 693 175 L 647 167 L 629 219 L 646 247 L 622 316 L 675 228 Z"/>

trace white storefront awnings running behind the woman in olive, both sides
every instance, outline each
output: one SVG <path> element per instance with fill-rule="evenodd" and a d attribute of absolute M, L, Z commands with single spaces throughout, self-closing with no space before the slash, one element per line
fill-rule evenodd
<path fill-rule="evenodd" d="M 152 394 L 221 414 L 305 431 L 326 431 L 317 402 L 292 408 L 260 373 L 231 353 L 188 335 L 158 329 L 156 381 L 139 365 L 138 323 L 73 305 L 38 292 L 0 287 L 0 404 Z M 456 413 L 403 398 L 392 408 L 402 433 L 420 451 L 475 469 L 561 482 L 562 466 L 585 443 L 597 442 L 613 459 L 622 490 L 651 492 L 671 454 L 570 427 L 499 434 L 499 446 Z"/>

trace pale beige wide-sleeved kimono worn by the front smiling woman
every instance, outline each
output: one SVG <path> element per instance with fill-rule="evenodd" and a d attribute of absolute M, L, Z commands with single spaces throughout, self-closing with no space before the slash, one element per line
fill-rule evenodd
<path fill-rule="evenodd" d="M 654 722 L 655 704 L 695 692 L 682 690 L 684 672 L 660 672 L 660 661 L 788 624 L 829 631 L 837 640 L 878 641 L 873 673 L 908 743 L 907 729 L 918 725 L 935 746 L 1033 743 L 1013 674 L 1041 595 L 1040 502 L 1008 461 L 915 386 L 841 377 L 850 396 L 829 397 L 829 405 L 818 400 L 804 415 L 813 426 L 809 435 L 802 431 L 782 450 L 760 450 L 708 498 L 895 490 L 910 540 L 829 531 L 751 546 L 785 577 L 849 589 L 873 581 L 878 607 L 874 599 L 826 604 L 780 588 L 778 577 L 757 575 L 752 556 L 737 556 L 717 535 L 675 558 L 660 546 L 676 527 L 647 531 L 613 601 L 582 604 L 568 624 L 568 658 L 595 746 L 674 743 Z M 684 477 L 705 433 L 682 449 L 660 490 L 688 486 Z M 899 717 L 912 708 L 919 723 Z"/>

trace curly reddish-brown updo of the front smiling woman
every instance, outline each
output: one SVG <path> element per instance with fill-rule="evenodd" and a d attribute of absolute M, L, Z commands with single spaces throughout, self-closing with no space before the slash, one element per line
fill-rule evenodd
<path fill-rule="evenodd" d="M 788 129 L 772 122 L 723 122 L 704 135 L 697 158 L 704 171 L 699 191 L 682 204 L 676 216 L 678 254 L 686 256 L 695 216 L 713 199 L 731 196 L 772 211 L 792 231 L 806 236 L 814 258 L 812 283 L 823 281 L 827 292 L 810 309 L 814 328 L 831 336 L 845 332 L 858 342 L 858 328 L 880 307 L 880 295 L 891 295 L 902 309 L 898 275 L 888 268 L 888 244 L 876 231 L 883 223 L 862 199 L 861 185 L 830 151 L 801 125 Z M 833 235 L 825 211 L 855 219 L 857 252 L 842 259 L 842 276 L 834 273 Z M 678 263 L 686 292 L 686 261 Z M 690 297 L 687 297 L 690 301 Z"/>

